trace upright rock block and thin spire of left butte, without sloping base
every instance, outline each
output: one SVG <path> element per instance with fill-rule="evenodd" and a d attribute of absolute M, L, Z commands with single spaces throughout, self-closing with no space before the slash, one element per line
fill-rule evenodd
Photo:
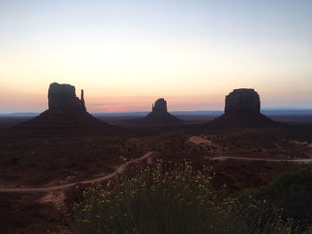
<path fill-rule="evenodd" d="M 48 91 L 49 109 L 52 110 L 84 110 L 84 91 L 81 90 L 81 99 L 76 97 L 75 86 L 53 83 Z"/>

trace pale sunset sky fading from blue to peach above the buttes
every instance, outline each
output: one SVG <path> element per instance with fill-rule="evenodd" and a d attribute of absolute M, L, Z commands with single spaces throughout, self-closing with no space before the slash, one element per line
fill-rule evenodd
<path fill-rule="evenodd" d="M 47 109 L 53 82 L 90 112 L 312 108 L 312 1 L 0 0 L 0 113 Z"/>

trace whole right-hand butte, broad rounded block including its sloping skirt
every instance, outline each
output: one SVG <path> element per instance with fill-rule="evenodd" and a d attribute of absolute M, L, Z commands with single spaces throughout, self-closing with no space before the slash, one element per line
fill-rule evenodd
<path fill-rule="evenodd" d="M 213 125 L 267 126 L 275 125 L 260 113 L 259 94 L 254 89 L 234 89 L 226 96 L 225 114 L 214 119 Z"/>

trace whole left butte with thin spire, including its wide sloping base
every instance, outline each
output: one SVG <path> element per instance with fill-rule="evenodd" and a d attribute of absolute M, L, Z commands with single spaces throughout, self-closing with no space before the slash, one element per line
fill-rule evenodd
<path fill-rule="evenodd" d="M 30 129 L 88 129 L 103 130 L 111 125 L 91 116 L 86 111 L 84 91 L 80 99 L 76 96 L 75 86 L 53 83 L 48 90 L 49 109 L 18 127 Z"/>

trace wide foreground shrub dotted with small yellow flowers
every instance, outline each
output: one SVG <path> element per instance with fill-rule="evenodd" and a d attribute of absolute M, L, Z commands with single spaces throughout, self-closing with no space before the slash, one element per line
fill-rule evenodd
<path fill-rule="evenodd" d="M 241 197 L 242 198 L 242 197 Z M 83 192 L 60 233 L 296 233 L 266 199 L 227 196 L 207 168 L 183 165 L 136 168 Z"/>

